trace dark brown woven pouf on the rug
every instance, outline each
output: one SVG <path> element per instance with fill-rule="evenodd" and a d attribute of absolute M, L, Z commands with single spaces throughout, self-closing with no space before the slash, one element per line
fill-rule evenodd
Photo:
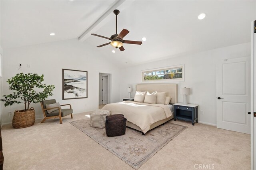
<path fill-rule="evenodd" d="M 110 115 L 106 117 L 106 134 L 108 137 L 124 135 L 126 118 L 124 115 Z"/>

